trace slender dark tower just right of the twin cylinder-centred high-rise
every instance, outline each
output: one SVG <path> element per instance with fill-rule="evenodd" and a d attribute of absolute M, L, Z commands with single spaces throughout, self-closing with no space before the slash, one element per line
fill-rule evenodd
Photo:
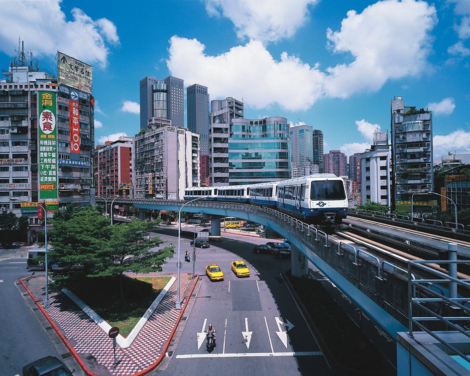
<path fill-rule="evenodd" d="M 194 84 L 186 89 L 188 129 L 200 135 L 201 185 L 209 183 L 209 94 L 207 87 Z"/>

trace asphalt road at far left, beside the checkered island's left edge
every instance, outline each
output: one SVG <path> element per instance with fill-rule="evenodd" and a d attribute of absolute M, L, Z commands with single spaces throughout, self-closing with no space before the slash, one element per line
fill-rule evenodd
<path fill-rule="evenodd" d="M 61 355 L 68 353 L 42 314 L 35 310 L 19 278 L 30 275 L 26 270 L 25 249 L 0 250 L 0 375 L 21 375 L 24 365 L 46 357 L 55 356 L 64 361 Z M 67 361 L 67 365 L 71 360 Z M 73 366 L 75 376 L 84 375 L 80 368 Z"/>

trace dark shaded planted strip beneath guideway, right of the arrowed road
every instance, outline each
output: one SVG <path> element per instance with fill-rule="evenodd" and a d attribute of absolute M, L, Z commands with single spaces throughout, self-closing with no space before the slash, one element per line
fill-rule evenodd
<path fill-rule="evenodd" d="M 384 358 L 378 348 L 360 331 L 320 281 L 294 277 L 290 271 L 286 274 L 330 354 L 339 364 L 364 374 L 375 374 L 384 367 Z"/>

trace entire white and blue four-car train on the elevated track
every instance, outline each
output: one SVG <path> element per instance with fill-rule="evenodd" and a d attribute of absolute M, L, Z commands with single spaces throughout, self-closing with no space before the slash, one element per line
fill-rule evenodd
<path fill-rule="evenodd" d="M 314 174 L 272 183 L 193 187 L 184 199 L 207 197 L 213 201 L 235 201 L 267 206 L 311 224 L 339 225 L 348 215 L 348 195 L 342 178 Z"/>

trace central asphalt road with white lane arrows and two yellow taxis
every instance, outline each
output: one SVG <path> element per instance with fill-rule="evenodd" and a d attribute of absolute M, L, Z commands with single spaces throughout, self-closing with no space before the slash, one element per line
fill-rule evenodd
<path fill-rule="evenodd" d="M 184 251 L 193 250 L 189 245 L 192 231 L 182 230 L 181 257 Z M 174 228 L 153 235 L 178 244 Z M 321 353 L 281 277 L 290 268 L 290 260 L 253 253 L 253 247 L 265 244 L 266 239 L 225 233 L 223 238 L 224 243 L 196 251 L 195 270 L 202 283 L 176 350 L 155 375 L 207 374 L 208 368 L 220 375 L 344 375 Z M 177 248 L 175 251 L 177 254 Z M 249 278 L 237 278 L 231 271 L 231 261 L 238 259 L 248 264 Z M 205 266 L 212 263 L 221 267 L 224 281 L 211 282 L 205 276 Z M 164 265 L 163 271 L 176 272 L 176 259 Z M 192 272 L 192 262 L 183 262 L 181 271 Z M 217 330 L 217 347 L 212 353 L 204 342 L 198 342 L 198 333 L 210 323 Z M 246 333 L 250 333 L 249 346 Z"/>

